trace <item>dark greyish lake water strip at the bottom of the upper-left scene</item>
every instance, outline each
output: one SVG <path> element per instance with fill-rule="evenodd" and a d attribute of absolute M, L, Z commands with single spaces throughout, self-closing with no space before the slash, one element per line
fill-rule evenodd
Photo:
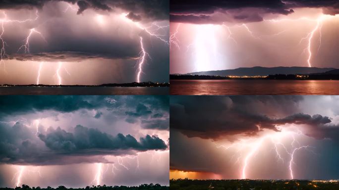
<path fill-rule="evenodd" d="M 169 87 L 0 87 L 0 95 L 168 95 Z"/>

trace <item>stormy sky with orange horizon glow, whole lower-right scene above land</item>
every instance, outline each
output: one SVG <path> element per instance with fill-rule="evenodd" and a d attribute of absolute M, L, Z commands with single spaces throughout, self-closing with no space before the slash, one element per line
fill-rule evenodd
<path fill-rule="evenodd" d="M 339 179 L 339 96 L 172 96 L 170 179 Z"/>

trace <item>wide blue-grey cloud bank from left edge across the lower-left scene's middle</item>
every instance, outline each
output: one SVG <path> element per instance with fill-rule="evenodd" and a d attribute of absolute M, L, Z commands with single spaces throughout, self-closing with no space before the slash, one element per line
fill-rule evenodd
<path fill-rule="evenodd" d="M 146 135 L 137 141 L 131 135 L 112 136 L 98 129 L 78 125 L 74 132 L 49 128 L 46 134 L 32 134 L 25 125 L 2 125 L 0 162 L 12 164 L 63 165 L 82 162 L 109 163 L 104 155 L 126 155 L 147 150 L 165 150 L 166 143 Z M 39 141 L 37 141 L 37 138 Z"/>

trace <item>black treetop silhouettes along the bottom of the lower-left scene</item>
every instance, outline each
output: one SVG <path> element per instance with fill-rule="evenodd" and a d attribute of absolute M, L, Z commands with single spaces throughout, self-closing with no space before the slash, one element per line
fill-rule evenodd
<path fill-rule="evenodd" d="M 22 185 L 22 187 L 14 188 L 0 188 L 0 190 L 169 190 L 168 186 L 161 186 L 159 184 L 143 184 L 140 186 L 87 186 L 86 188 L 66 188 L 64 186 L 59 186 L 57 188 L 40 188 L 40 187 L 29 187 L 27 185 Z"/>

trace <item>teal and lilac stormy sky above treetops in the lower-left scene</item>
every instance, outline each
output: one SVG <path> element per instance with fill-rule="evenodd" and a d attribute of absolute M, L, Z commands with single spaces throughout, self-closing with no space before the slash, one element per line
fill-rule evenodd
<path fill-rule="evenodd" d="M 0 97 L 0 187 L 169 185 L 169 96 Z"/>

